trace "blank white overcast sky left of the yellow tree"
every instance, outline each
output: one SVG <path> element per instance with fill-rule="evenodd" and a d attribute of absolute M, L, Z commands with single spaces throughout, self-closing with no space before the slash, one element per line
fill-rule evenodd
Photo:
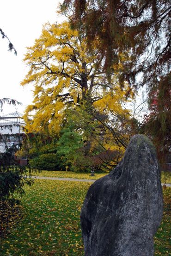
<path fill-rule="evenodd" d="M 0 99 L 12 98 L 23 103 L 23 106 L 7 106 L 0 115 L 10 112 L 23 113 L 25 106 L 31 104 L 31 87 L 20 86 L 27 73 L 24 62 L 26 47 L 34 44 L 46 22 L 61 22 L 56 9 L 59 0 L 7 0 L 0 1 L 0 28 L 9 37 L 17 56 L 8 52 L 8 41 L 0 37 Z"/>

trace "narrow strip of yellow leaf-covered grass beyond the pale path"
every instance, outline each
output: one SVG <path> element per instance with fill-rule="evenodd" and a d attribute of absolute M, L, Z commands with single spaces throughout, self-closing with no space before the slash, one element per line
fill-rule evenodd
<path fill-rule="evenodd" d="M 92 179 L 97 180 L 107 173 L 96 173 L 95 176 L 90 176 L 90 173 L 75 173 L 69 171 L 42 171 L 36 174 L 37 176 L 58 177 L 58 178 L 76 178 L 76 179 Z M 161 172 L 161 182 L 171 183 L 171 172 Z"/>

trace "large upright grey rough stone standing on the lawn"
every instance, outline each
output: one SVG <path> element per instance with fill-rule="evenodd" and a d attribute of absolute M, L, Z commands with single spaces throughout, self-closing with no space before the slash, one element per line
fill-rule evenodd
<path fill-rule="evenodd" d="M 81 210 L 85 256 L 153 256 L 163 211 L 155 149 L 134 135 L 109 175 L 89 188 Z"/>

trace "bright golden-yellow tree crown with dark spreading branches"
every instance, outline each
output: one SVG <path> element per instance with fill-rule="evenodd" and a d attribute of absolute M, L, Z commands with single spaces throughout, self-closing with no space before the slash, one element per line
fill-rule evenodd
<path fill-rule="evenodd" d="M 125 57 L 122 54 L 122 58 Z M 88 113 L 89 118 L 84 127 L 78 127 L 78 122 L 76 125 L 82 135 L 86 125 L 90 124 L 91 113 L 94 113 L 93 121 L 97 113 L 103 113 L 107 119 L 110 119 L 111 112 L 129 118 L 122 105 L 127 100 L 126 95 L 131 95 L 130 87 L 126 84 L 124 88 L 119 87 L 117 79 L 122 62 L 117 67 L 113 66 L 113 74 L 108 79 L 96 42 L 89 52 L 85 35 L 81 31 L 72 30 L 67 22 L 45 24 L 41 36 L 27 49 L 24 61 L 30 69 L 21 85 L 34 85 L 33 104 L 25 111 L 30 132 L 59 135 L 66 123 L 67 110 L 72 109 L 78 110 L 78 113 L 83 109 L 84 113 Z M 102 123 L 99 121 L 96 120 L 99 131 L 102 131 Z M 97 127 L 96 123 L 95 129 Z M 122 144 L 116 146 L 121 147 Z"/>

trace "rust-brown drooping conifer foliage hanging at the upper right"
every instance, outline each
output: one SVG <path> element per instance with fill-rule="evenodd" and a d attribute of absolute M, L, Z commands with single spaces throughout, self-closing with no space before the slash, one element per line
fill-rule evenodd
<path fill-rule="evenodd" d="M 119 72 L 120 86 L 127 81 L 131 88 L 147 87 L 151 113 L 145 131 L 153 138 L 158 156 L 165 158 L 171 138 L 171 2 L 64 0 L 61 11 L 72 27 L 85 31 L 90 51 L 99 39 L 97 48 L 106 72 L 113 63 L 119 64 L 121 53 L 128 54 Z"/>

